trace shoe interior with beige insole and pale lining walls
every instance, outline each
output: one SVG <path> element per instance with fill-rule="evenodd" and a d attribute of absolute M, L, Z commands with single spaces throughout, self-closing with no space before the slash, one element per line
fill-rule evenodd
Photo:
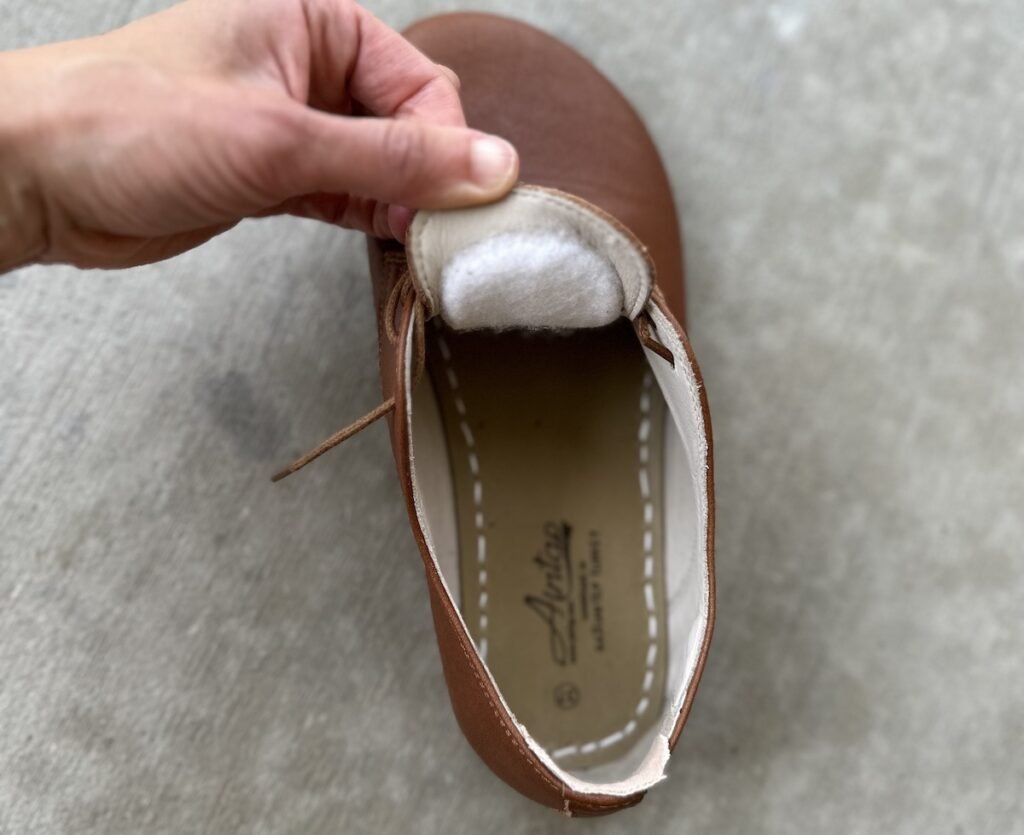
<path fill-rule="evenodd" d="M 625 319 L 427 330 L 414 483 L 445 585 L 531 744 L 628 781 L 667 756 L 708 623 L 695 385 Z"/>

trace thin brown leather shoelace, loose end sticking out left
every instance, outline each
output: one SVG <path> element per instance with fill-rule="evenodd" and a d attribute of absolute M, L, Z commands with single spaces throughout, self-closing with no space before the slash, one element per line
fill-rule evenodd
<path fill-rule="evenodd" d="M 655 289 L 655 293 L 659 291 Z M 414 345 L 414 362 L 413 367 L 413 385 L 415 386 L 420 378 L 423 376 L 423 370 L 426 366 L 426 336 L 425 336 L 425 324 L 426 324 L 426 314 L 423 300 L 419 297 L 416 292 L 416 285 L 413 284 L 412 276 L 409 270 L 404 270 L 395 282 L 394 287 L 391 288 L 391 292 L 388 294 L 387 302 L 384 305 L 384 333 L 387 336 L 388 341 L 393 345 L 398 341 L 399 333 L 395 328 L 395 316 L 402 309 L 404 302 L 409 298 L 413 299 L 413 333 L 415 337 Z M 649 348 L 663 360 L 665 360 L 669 365 L 675 368 L 676 358 L 672 356 L 672 351 L 669 350 L 664 344 L 662 344 L 657 339 L 654 338 L 652 333 L 653 323 L 646 311 L 642 312 L 635 320 L 633 320 L 633 329 L 636 331 L 637 337 L 644 347 Z M 395 399 L 394 396 L 388 398 L 380 406 L 367 412 L 362 417 L 357 420 L 353 420 L 347 426 L 339 429 L 333 435 L 331 435 L 326 441 L 318 444 L 316 447 L 311 449 L 305 455 L 296 458 L 291 464 L 285 467 L 280 472 L 275 472 L 270 476 L 271 482 L 280 482 L 282 478 L 287 478 L 294 472 L 298 472 L 307 464 L 311 464 L 322 455 L 331 452 L 335 447 L 344 444 L 352 435 L 358 434 L 364 429 L 367 428 L 372 423 L 377 422 L 382 417 L 390 414 L 394 411 Z"/>

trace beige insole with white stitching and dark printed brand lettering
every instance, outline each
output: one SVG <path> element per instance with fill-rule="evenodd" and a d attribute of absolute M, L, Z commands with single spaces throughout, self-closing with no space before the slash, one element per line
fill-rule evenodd
<path fill-rule="evenodd" d="M 665 692 L 660 391 L 625 320 L 429 340 L 470 633 L 559 764 L 613 760 Z"/>

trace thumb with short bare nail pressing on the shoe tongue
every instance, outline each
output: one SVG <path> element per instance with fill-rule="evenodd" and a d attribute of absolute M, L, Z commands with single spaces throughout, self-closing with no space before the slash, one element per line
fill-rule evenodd
<path fill-rule="evenodd" d="M 519 176 L 519 157 L 504 139 L 462 127 L 303 109 L 281 172 L 295 197 L 347 194 L 414 209 L 487 203 Z"/>

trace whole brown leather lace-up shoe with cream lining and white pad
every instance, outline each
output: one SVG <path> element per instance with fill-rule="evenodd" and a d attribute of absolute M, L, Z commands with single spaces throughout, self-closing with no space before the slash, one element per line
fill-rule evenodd
<path fill-rule="evenodd" d="M 407 35 L 529 184 L 371 241 L 387 400 L 359 425 L 389 413 L 466 738 L 539 803 L 613 811 L 663 779 L 714 620 L 672 195 L 637 115 L 565 45 L 486 14 Z"/>

